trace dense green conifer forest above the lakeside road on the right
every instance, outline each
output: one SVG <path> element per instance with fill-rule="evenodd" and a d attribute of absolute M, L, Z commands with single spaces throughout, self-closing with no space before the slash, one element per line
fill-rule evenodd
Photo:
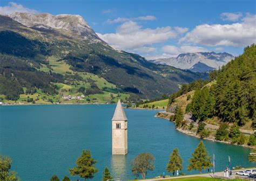
<path fill-rule="evenodd" d="M 169 107 L 174 100 L 189 91 L 195 90 L 192 102 L 186 111 L 199 121 L 218 117 L 221 122 L 235 123 L 238 126 L 256 128 L 256 46 L 245 48 L 244 53 L 235 58 L 219 71 L 210 74 L 209 86 L 204 83 L 184 85 L 170 96 Z"/>

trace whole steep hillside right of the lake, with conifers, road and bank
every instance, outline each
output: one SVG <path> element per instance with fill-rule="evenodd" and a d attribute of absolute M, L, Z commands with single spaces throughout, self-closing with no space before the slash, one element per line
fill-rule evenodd
<path fill-rule="evenodd" d="M 209 81 L 183 85 L 169 98 L 176 128 L 188 135 L 232 144 L 256 145 L 256 46 L 244 49 Z"/>

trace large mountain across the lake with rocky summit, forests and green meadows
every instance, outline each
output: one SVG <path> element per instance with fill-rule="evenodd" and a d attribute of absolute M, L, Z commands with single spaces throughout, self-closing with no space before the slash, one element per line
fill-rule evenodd
<path fill-rule="evenodd" d="M 151 99 L 206 77 L 112 48 L 79 15 L 0 16 L 0 95 L 8 99 L 35 88 L 40 96 L 82 92 L 94 96 L 87 100 L 111 101 L 124 93 Z"/>

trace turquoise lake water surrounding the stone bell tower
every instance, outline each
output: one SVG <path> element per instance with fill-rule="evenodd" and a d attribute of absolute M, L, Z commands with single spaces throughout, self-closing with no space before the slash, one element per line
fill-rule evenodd
<path fill-rule="evenodd" d="M 125 109 L 128 118 L 128 155 L 112 156 L 111 119 L 116 105 L 44 105 L 0 106 L 0 154 L 12 158 L 12 169 L 21 180 L 60 180 L 69 176 L 69 168 L 83 149 L 89 149 L 97 160 L 99 172 L 93 180 L 101 180 L 107 166 L 114 178 L 132 179 L 130 162 L 141 152 L 156 157 L 156 169 L 147 178 L 165 171 L 173 148 L 188 159 L 200 139 L 187 136 L 174 124 L 154 117 L 156 110 Z M 210 155 L 215 154 L 215 169 L 227 166 L 255 166 L 247 161 L 250 149 L 223 143 L 204 141 Z M 171 174 L 171 173 L 170 173 Z M 167 173 L 166 173 L 167 175 Z M 70 177 L 78 179 L 79 177 Z"/>

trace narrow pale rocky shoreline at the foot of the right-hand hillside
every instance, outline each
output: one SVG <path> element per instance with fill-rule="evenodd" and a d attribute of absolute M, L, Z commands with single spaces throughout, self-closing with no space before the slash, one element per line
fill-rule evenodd
<path fill-rule="evenodd" d="M 163 114 L 163 113 L 162 113 Z M 165 120 L 169 120 L 169 117 L 166 115 L 166 116 L 161 116 L 161 114 L 159 114 L 160 116 L 158 116 L 157 114 L 155 115 L 155 117 L 158 117 L 160 119 L 165 119 Z M 171 121 L 170 121 L 171 122 Z M 172 121 L 173 122 L 173 121 Z M 228 142 L 228 141 L 219 141 L 219 140 L 215 140 L 215 138 L 211 138 L 211 137 L 206 137 L 206 138 L 200 138 L 196 132 L 193 132 L 193 131 L 189 131 L 189 130 L 184 130 L 184 129 L 181 129 L 181 128 L 175 128 L 177 131 L 179 131 L 180 133 L 183 133 L 183 134 L 186 134 L 188 136 L 193 136 L 193 137 L 196 137 L 196 138 L 199 138 L 201 140 L 208 140 L 208 141 L 212 141 L 212 142 L 219 142 L 219 143 L 225 143 L 225 144 L 231 144 L 231 145 L 236 145 L 236 146 L 239 146 L 239 147 L 245 147 L 245 148 L 250 148 L 250 149 L 255 149 L 256 147 L 253 147 L 253 146 L 249 146 L 249 145 L 239 145 L 237 143 L 235 144 L 232 144 L 231 142 Z"/>

